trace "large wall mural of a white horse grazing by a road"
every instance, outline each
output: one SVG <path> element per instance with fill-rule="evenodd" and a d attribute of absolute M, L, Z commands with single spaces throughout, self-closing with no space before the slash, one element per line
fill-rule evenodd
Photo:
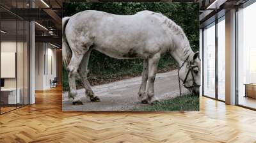
<path fill-rule="evenodd" d="M 63 111 L 199 110 L 198 3 L 64 3 L 62 28 Z"/>

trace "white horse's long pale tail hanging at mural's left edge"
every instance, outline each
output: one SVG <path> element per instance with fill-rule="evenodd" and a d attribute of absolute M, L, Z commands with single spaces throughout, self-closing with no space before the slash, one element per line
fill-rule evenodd
<path fill-rule="evenodd" d="M 68 20 L 70 17 L 64 17 L 62 19 L 62 57 L 63 57 L 63 63 L 67 67 L 70 59 L 72 57 L 72 51 L 68 45 L 65 29 L 68 23 Z"/>

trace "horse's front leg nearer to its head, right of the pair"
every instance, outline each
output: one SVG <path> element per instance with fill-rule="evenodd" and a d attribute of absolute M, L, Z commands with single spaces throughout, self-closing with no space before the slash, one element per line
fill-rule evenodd
<path fill-rule="evenodd" d="M 157 53 L 148 59 L 148 103 L 157 102 L 157 98 L 154 96 L 154 82 L 160 57 L 161 54 Z"/>

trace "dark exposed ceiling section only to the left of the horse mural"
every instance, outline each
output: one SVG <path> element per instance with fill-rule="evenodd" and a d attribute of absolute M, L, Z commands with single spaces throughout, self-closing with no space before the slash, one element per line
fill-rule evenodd
<path fill-rule="evenodd" d="M 36 41 L 47 41 L 61 47 L 61 4 L 65 0 L 1 0 L 1 29 L 8 31 L 2 38 L 22 37 L 23 29 L 16 20 L 35 20 Z M 33 7 L 33 8 L 32 8 Z M 17 32 L 16 32 L 17 29 Z M 3 35 L 3 33 L 1 33 Z"/>

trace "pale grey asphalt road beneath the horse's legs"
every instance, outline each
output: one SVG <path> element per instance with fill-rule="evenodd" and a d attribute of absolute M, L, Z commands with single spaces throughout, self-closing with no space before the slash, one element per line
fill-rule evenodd
<path fill-rule="evenodd" d="M 120 80 L 99 86 L 92 89 L 100 98 L 100 102 L 90 102 L 85 96 L 84 89 L 77 90 L 77 96 L 81 97 L 83 105 L 72 105 L 68 101 L 67 92 L 63 93 L 63 111 L 127 111 L 135 106 L 145 106 L 138 100 L 138 90 L 141 77 Z M 172 98 L 179 95 L 179 81 L 177 70 L 166 73 L 157 73 L 155 80 L 155 96 L 159 100 Z M 188 90 L 182 87 L 182 93 Z"/>

